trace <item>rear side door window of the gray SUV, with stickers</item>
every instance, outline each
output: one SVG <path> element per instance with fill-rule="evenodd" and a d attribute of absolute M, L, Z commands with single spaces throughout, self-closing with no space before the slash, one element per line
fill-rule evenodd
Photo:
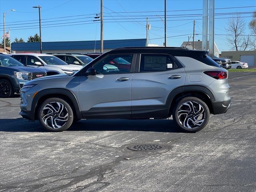
<path fill-rule="evenodd" d="M 169 55 L 142 54 L 140 59 L 140 72 L 167 71 L 176 68 L 175 62 Z"/>

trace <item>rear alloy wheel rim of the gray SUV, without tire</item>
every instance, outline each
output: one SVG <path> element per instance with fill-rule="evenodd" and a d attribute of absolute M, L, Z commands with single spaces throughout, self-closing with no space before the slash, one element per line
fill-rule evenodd
<path fill-rule="evenodd" d="M 206 113 L 201 104 L 195 101 L 184 102 L 178 108 L 178 121 L 188 129 L 198 128 L 206 118 Z"/>

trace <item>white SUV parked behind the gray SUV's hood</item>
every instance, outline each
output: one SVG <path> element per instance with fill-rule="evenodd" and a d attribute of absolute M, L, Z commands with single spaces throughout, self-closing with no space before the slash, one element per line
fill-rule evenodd
<path fill-rule="evenodd" d="M 48 54 L 16 53 L 9 55 L 25 66 L 44 69 L 47 76 L 57 74 L 72 74 L 82 68 L 82 66 L 79 65 L 69 65 L 61 59 Z"/>

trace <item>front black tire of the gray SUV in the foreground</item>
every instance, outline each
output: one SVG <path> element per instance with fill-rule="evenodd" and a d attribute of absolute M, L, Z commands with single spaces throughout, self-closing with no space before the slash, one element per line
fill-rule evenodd
<path fill-rule="evenodd" d="M 61 108 L 62 105 L 64 106 L 63 108 Z M 56 110 L 54 111 L 53 108 L 55 108 Z M 50 111 L 52 111 L 52 113 Z M 49 115 L 46 116 L 47 114 Z M 62 117 L 60 117 L 60 115 Z M 63 117 L 65 115 L 67 116 L 67 118 Z M 46 118 L 44 118 L 44 116 L 46 116 Z M 49 116 L 52 116 L 52 117 L 49 117 Z M 46 121 L 46 123 L 44 122 L 43 118 Z M 49 98 L 49 99 L 46 99 L 39 107 L 38 120 L 42 124 L 44 129 L 52 132 L 61 132 L 61 131 L 67 130 L 72 125 L 74 120 L 74 112 L 70 104 L 65 100 L 60 98 Z M 52 120 L 54 120 L 54 125 L 52 125 Z"/>

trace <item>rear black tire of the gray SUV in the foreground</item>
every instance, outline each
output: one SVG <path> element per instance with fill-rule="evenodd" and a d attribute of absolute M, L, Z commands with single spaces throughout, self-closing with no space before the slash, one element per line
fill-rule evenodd
<path fill-rule="evenodd" d="M 195 112 L 194 110 L 191 109 L 190 106 L 188 106 L 187 104 L 190 105 L 190 103 L 187 103 L 187 102 L 191 102 L 191 104 L 193 104 L 193 108 L 194 106 L 198 109 L 200 109 L 201 111 L 204 110 L 202 112 L 202 114 L 200 113 L 200 110 L 198 110 L 196 112 L 196 108 L 195 108 Z M 201 107 L 202 108 L 201 108 Z M 189 111 L 191 110 L 191 112 L 186 112 L 184 110 L 184 107 L 188 107 L 188 109 L 186 111 Z M 180 119 L 178 118 L 178 111 L 182 111 L 182 112 L 179 112 L 179 115 L 180 115 Z M 198 119 L 193 119 L 194 122 L 192 122 L 192 118 L 197 118 L 196 116 L 198 116 L 198 114 L 201 114 L 202 115 L 202 123 L 200 124 L 200 122 L 198 122 Z M 188 116 L 190 116 L 189 118 L 187 118 Z M 184 118 L 185 117 L 185 118 Z M 198 116 L 199 118 L 200 116 Z M 185 131 L 185 132 L 190 132 L 190 133 L 194 133 L 194 132 L 198 132 L 200 130 L 202 130 L 208 123 L 209 121 L 209 118 L 210 118 L 210 111 L 209 111 L 209 108 L 208 106 L 206 105 L 205 102 L 203 102 L 201 99 L 199 98 L 196 98 L 196 97 L 185 97 L 185 98 L 182 98 L 173 108 L 172 110 L 172 118 L 174 120 L 174 123 L 176 124 L 176 126 L 178 126 L 178 128 L 180 128 L 181 130 Z M 185 119 L 183 121 L 183 119 Z M 182 124 L 182 121 L 183 123 L 186 122 L 186 125 L 184 126 L 184 124 Z M 194 123 L 197 123 L 198 125 L 194 124 Z M 193 125 L 194 124 L 194 125 Z M 187 127 L 186 127 L 187 126 Z M 190 128 L 189 128 L 189 127 Z"/>

